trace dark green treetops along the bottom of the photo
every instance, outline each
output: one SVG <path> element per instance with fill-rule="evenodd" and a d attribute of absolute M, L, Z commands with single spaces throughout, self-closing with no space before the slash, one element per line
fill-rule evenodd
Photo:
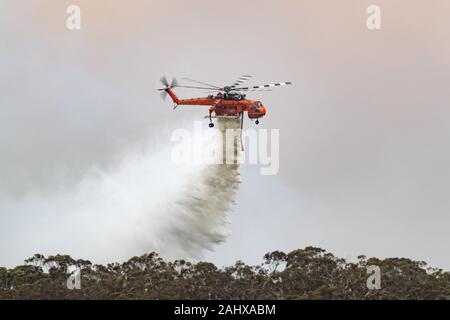
<path fill-rule="evenodd" d="M 107 266 L 70 256 L 35 255 L 0 268 L 0 299 L 449 299 L 450 273 L 409 259 L 358 257 L 350 263 L 320 248 L 275 251 L 259 266 L 238 261 L 166 262 L 156 253 Z M 381 289 L 368 290 L 367 266 L 381 269 Z M 69 290 L 68 270 L 81 270 L 81 290 Z"/>

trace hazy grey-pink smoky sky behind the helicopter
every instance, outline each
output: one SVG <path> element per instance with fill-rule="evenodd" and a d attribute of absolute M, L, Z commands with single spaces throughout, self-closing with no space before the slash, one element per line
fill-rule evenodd
<path fill-rule="evenodd" d="M 79 31 L 66 28 L 71 4 Z M 366 27 L 372 4 L 378 31 Z M 231 234 L 203 258 L 258 263 L 314 245 L 450 269 L 449 18 L 446 0 L 0 0 L 0 264 L 37 251 L 99 262 L 143 253 L 121 229 L 143 203 L 132 192 L 173 199 L 189 174 L 144 166 L 148 181 L 114 189 L 136 201 L 113 216 L 112 196 L 98 190 L 122 181 L 111 177 L 134 181 L 124 169 L 134 155 L 160 163 L 171 132 L 207 113 L 174 112 L 159 78 L 251 74 L 255 85 L 293 82 L 252 96 L 268 109 L 260 127 L 280 129 L 280 171 L 241 168 Z M 91 193 L 98 176 L 107 187 Z M 92 194 L 104 202 L 79 215 L 73 204 L 89 206 Z M 94 229 L 79 239 L 73 224 Z"/>

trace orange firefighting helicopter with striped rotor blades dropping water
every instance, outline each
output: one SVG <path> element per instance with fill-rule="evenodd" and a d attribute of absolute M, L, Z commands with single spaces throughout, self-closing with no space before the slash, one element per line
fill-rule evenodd
<path fill-rule="evenodd" d="M 291 85 L 291 82 L 280 82 L 273 84 L 266 84 L 262 86 L 248 86 L 241 87 L 241 85 L 250 80 L 252 76 L 243 75 L 235 83 L 230 86 L 216 86 L 206 82 L 201 82 L 189 78 L 183 78 L 184 80 L 196 83 L 202 86 L 185 86 L 179 85 L 176 79 L 173 79 L 172 83 L 169 84 L 166 77 L 161 78 L 161 83 L 164 88 L 158 89 L 161 92 L 161 97 L 165 99 L 167 95 L 172 98 L 174 103 L 174 109 L 180 105 L 187 106 L 211 106 L 209 108 L 209 127 L 213 128 L 214 123 L 213 118 L 221 117 L 235 117 L 241 120 L 241 129 L 244 124 L 244 112 L 247 112 L 249 119 L 254 120 L 255 123 L 259 124 L 259 119 L 266 115 L 266 108 L 263 106 L 261 101 L 247 100 L 244 92 L 254 92 L 254 91 L 271 91 L 271 88 Z M 211 93 L 204 98 L 194 98 L 194 99 L 179 99 L 172 89 L 174 88 L 188 88 L 188 89 L 201 89 L 208 90 Z M 215 114 L 213 116 L 212 114 Z"/>

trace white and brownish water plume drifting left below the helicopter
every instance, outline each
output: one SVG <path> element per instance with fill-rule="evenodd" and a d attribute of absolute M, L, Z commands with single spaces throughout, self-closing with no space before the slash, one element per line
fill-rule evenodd
<path fill-rule="evenodd" d="M 238 124 L 219 121 L 222 131 L 230 126 Z M 22 221 L 1 225 L 4 236 L 21 243 L 12 253 L 3 242 L 3 255 L 59 253 L 109 262 L 157 251 L 168 259 L 201 258 L 224 241 L 239 165 L 176 165 L 171 147 L 148 149 L 129 152 L 114 169 L 90 172 L 71 191 L 0 204 Z"/>

